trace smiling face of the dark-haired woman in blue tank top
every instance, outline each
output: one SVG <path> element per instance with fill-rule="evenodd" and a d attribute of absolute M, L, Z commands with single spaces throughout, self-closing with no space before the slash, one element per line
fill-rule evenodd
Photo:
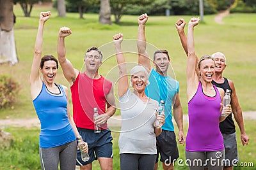
<path fill-rule="evenodd" d="M 53 83 L 57 74 L 57 63 L 54 60 L 47 60 L 44 66 L 40 69 L 45 83 Z"/>

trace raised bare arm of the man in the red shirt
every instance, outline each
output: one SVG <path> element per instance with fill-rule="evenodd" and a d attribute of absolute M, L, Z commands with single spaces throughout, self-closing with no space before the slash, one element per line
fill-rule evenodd
<path fill-rule="evenodd" d="M 63 74 L 71 86 L 76 80 L 79 71 L 77 69 L 74 69 L 71 62 L 66 58 L 65 37 L 69 36 L 70 34 L 72 34 L 70 28 L 60 28 L 58 35 L 58 60 L 63 70 Z"/>

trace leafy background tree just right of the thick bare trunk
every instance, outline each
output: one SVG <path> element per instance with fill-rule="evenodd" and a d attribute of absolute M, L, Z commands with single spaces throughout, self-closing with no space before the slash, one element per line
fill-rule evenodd
<path fill-rule="evenodd" d="M 129 4 L 138 4 L 140 6 L 145 6 L 153 2 L 154 0 L 110 0 L 111 10 L 115 15 L 115 23 L 118 24 L 120 22 L 125 6 Z"/>

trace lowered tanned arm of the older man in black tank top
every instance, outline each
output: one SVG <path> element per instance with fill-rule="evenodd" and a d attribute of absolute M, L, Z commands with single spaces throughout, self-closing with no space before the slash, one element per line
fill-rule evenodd
<path fill-rule="evenodd" d="M 236 95 L 236 88 L 235 88 L 233 81 L 228 80 L 228 84 L 230 85 L 230 87 L 232 89 L 231 106 L 232 106 L 232 112 L 234 114 L 235 120 L 240 129 L 240 138 L 241 138 L 243 145 L 248 145 L 250 138 L 247 136 L 245 129 L 244 129 L 243 114 L 242 114 L 242 109 L 241 109 L 241 106 L 238 102 L 238 98 Z"/>

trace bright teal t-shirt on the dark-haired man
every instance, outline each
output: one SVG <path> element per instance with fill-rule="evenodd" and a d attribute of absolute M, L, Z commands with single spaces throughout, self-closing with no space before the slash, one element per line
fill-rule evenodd
<path fill-rule="evenodd" d="M 148 80 L 150 84 L 145 89 L 146 95 L 158 101 L 158 103 L 160 103 L 161 100 L 165 101 L 165 123 L 162 129 L 174 131 L 172 122 L 172 101 L 175 100 L 173 99 L 175 94 L 179 93 L 179 82 L 170 76 L 162 76 L 157 73 L 155 69 L 152 69 Z"/>

